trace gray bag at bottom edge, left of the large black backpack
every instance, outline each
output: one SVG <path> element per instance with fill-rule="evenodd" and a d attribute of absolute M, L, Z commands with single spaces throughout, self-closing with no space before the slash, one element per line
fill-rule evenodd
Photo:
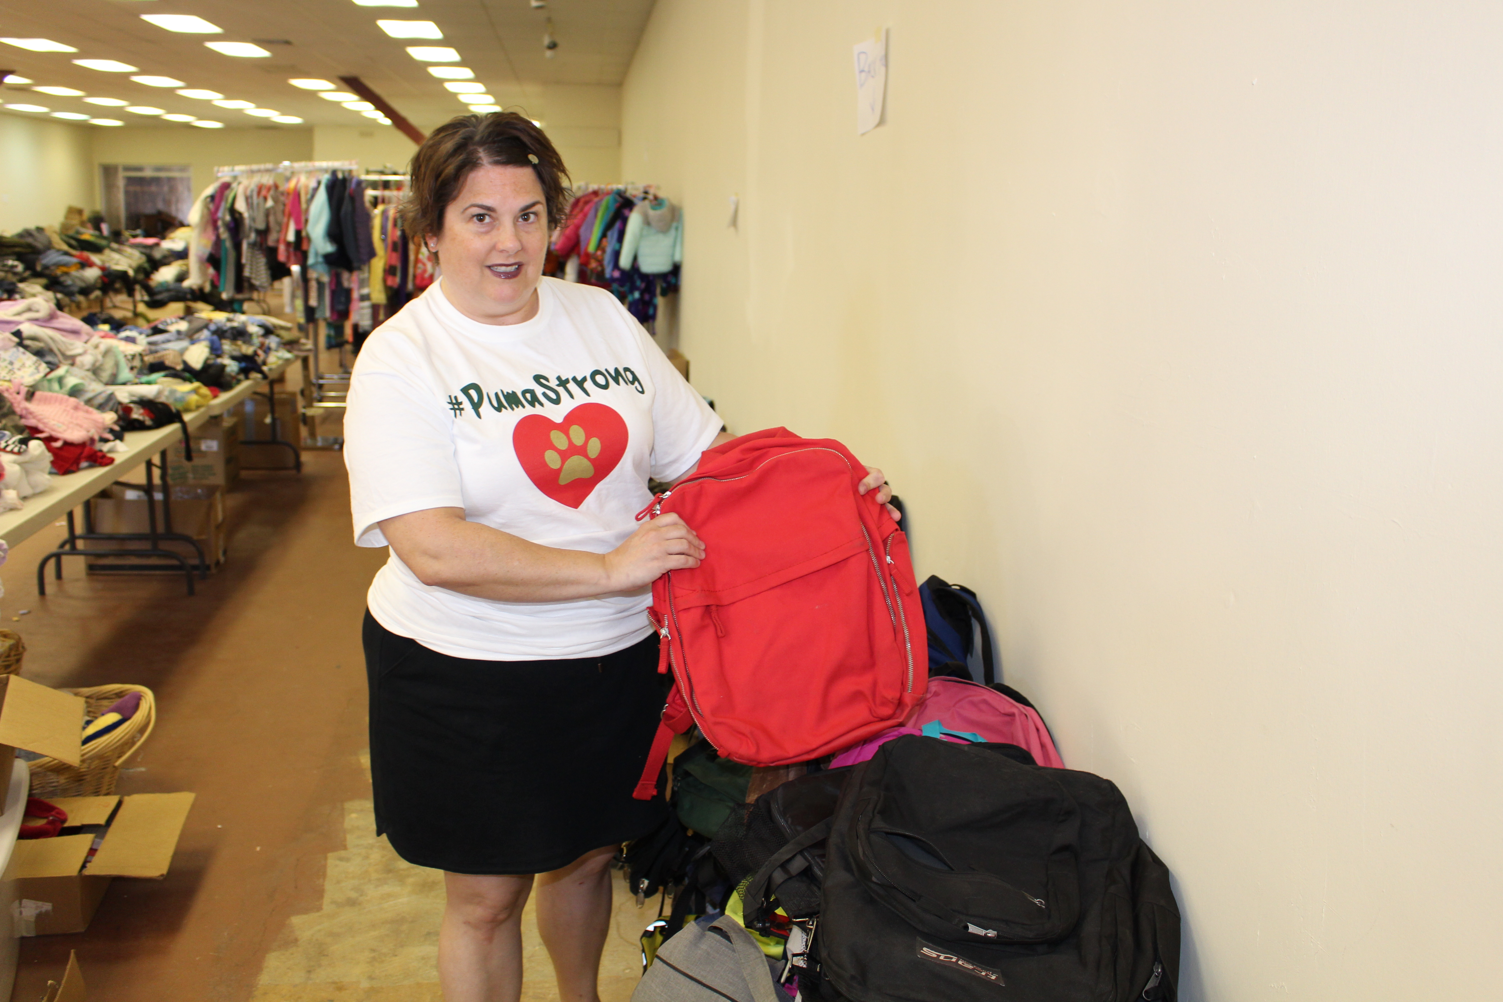
<path fill-rule="evenodd" d="M 631 1002 L 788 1002 L 773 963 L 729 915 L 708 928 L 690 922 L 657 951 Z"/>

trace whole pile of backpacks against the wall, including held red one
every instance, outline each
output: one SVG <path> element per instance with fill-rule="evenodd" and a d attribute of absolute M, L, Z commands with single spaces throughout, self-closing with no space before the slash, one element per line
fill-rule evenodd
<path fill-rule="evenodd" d="M 673 688 L 636 795 L 673 813 L 622 859 L 658 898 L 634 1002 L 1172 1002 L 1168 868 L 864 475 L 776 428 L 642 512 L 712 556 L 654 584 Z"/>

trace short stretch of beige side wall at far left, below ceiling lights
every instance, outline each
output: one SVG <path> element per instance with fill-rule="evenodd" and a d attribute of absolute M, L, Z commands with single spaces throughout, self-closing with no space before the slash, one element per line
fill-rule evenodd
<path fill-rule="evenodd" d="M 68 206 L 98 207 L 92 131 L 0 113 L 0 233 L 59 225 Z"/>

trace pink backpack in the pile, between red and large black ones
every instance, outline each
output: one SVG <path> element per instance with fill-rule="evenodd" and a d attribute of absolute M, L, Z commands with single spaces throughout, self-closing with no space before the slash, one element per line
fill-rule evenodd
<path fill-rule="evenodd" d="M 1039 711 L 978 682 L 945 676 L 929 679 L 929 688 L 902 727 L 846 748 L 830 768 L 866 762 L 879 747 L 903 735 L 924 735 L 954 744 L 1004 742 L 1025 748 L 1042 766 L 1064 768 Z"/>

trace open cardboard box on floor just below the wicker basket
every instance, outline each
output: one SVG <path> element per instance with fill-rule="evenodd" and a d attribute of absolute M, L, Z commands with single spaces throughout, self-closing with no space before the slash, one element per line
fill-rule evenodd
<path fill-rule="evenodd" d="M 68 811 L 63 834 L 18 841 L 5 871 L 17 882 L 17 933 L 81 933 L 111 880 L 167 876 L 192 801 L 192 793 L 51 798 Z M 102 841 L 90 859 L 95 838 Z"/>

